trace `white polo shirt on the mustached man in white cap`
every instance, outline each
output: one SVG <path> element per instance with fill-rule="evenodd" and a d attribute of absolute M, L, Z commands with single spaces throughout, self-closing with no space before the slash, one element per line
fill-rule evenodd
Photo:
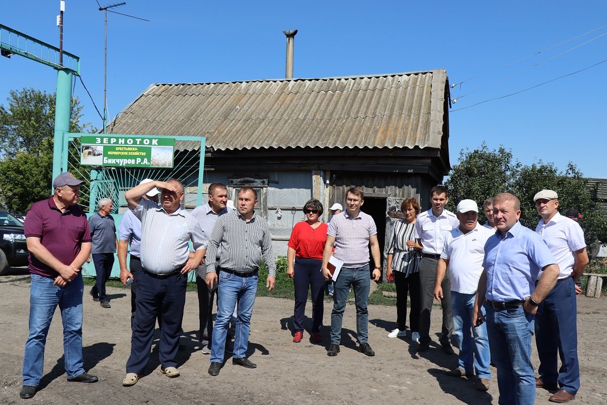
<path fill-rule="evenodd" d="M 459 230 L 459 225 L 447 233 L 441 259 L 449 259 L 451 291 L 476 293 L 478 279 L 483 273 L 485 243 L 493 234 L 495 231 L 479 223 L 466 234 Z"/>

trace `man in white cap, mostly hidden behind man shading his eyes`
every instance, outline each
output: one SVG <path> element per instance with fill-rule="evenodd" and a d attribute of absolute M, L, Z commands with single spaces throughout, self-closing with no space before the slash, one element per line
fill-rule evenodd
<path fill-rule="evenodd" d="M 141 180 L 139 184 L 145 184 L 152 182 L 152 179 L 144 179 Z M 152 188 L 150 191 L 143 196 L 146 200 L 151 200 L 155 203 L 158 203 L 158 191 L 157 188 Z M 120 222 L 120 226 L 118 227 L 118 263 L 120 264 L 120 281 L 122 284 L 126 285 L 127 279 L 131 278 L 131 326 L 133 325 L 133 319 L 135 319 L 135 297 L 137 296 L 137 276 L 141 273 L 141 220 L 138 219 L 133 212 L 128 209 L 124 216 L 122 217 L 122 221 Z M 130 250 L 129 250 L 130 247 Z M 126 254 L 128 253 L 131 256 L 129 270 L 126 267 Z M 160 317 L 158 318 L 158 322 L 160 321 Z"/>

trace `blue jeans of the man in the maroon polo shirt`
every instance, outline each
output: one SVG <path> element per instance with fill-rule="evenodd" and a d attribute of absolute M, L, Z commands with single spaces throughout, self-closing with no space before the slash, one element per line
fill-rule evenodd
<path fill-rule="evenodd" d="M 63 352 L 67 378 L 82 373 L 82 294 L 84 283 L 78 274 L 61 288 L 53 285 L 54 279 L 32 274 L 30 285 L 30 332 L 25 342 L 23 385 L 38 387 L 42 378 L 44 345 L 50 322 L 59 305 L 63 321 Z"/>

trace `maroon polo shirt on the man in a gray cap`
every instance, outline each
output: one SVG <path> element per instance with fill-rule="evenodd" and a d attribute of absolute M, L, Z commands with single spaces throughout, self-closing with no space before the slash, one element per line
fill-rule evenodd
<path fill-rule="evenodd" d="M 89 222 L 78 205 L 72 205 L 61 213 L 53 197 L 32 204 L 24 224 L 25 237 L 39 237 L 42 246 L 59 262 L 69 265 L 80 253 L 81 243 L 90 242 Z M 55 278 L 59 275 L 48 265 L 29 257 L 30 273 Z"/>

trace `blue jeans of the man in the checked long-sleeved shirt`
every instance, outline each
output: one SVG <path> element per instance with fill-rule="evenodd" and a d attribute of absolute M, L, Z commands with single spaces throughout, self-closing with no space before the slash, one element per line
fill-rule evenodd
<path fill-rule="evenodd" d="M 213 327 L 211 344 L 211 362 L 223 362 L 223 353 L 226 347 L 226 335 L 228 335 L 229 321 L 234 313 L 238 302 L 236 313 L 236 333 L 234 333 L 234 352 L 232 358 L 245 357 L 246 348 L 249 343 L 249 331 L 251 330 L 251 316 L 253 315 L 253 304 L 257 293 L 257 282 L 259 274 L 255 272 L 252 276 L 241 277 L 237 274 L 219 272 L 219 288 L 217 288 L 217 316 Z"/>

